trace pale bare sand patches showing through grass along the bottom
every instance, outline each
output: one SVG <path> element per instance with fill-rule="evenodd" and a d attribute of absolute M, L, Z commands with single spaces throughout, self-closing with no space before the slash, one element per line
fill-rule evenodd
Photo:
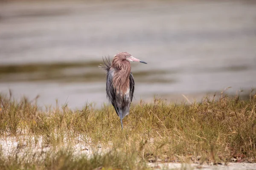
<path fill-rule="evenodd" d="M 78 140 L 79 141 L 79 140 Z M 86 145 L 83 142 L 76 142 L 71 144 L 71 146 L 74 149 L 74 153 L 79 155 L 87 155 L 89 157 L 93 156 L 95 152 L 104 154 L 108 151 L 108 148 L 103 148 L 101 145 L 98 146 L 90 146 Z M 67 144 L 64 144 L 63 147 L 67 147 Z M 10 153 L 15 151 L 17 148 L 20 149 L 19 156 L 22 156 L 24 153 L 26 153 L 28 150 L 32 151 L 32 153 L 41 153 L 41 152 L 48 152 L 51 150 L 50 146 L 43 146 L 42 141 L 39 140 L 38 144 L 34 147 L 28 147 L 26 144 L 20 144 L 17 142 L 17 139 L 15 138 L 6 138 L 6 139 L 0 139 L 0 148 L 3 152 L 4 156 L 8 156 Z M 60 149 L 61 147 L 59 147 Z M 148 163 L 149 167 L 152 167 L 154 170 L 161 170 L 163 168 L 165 169 L 203 169 L 203 170 L 256 170 L 256 163 L 246 163 L 246 162 L 239 162 L 239 163 L 227 163 L 225 165 L 217 164 L 213 165 L 211 164 L 199 164 L 199 163 L 176 163 L 176 162 L 167 162 L 167 163 L 161 163 L 161 162 L 155 162 L 155 163 Z"/>

